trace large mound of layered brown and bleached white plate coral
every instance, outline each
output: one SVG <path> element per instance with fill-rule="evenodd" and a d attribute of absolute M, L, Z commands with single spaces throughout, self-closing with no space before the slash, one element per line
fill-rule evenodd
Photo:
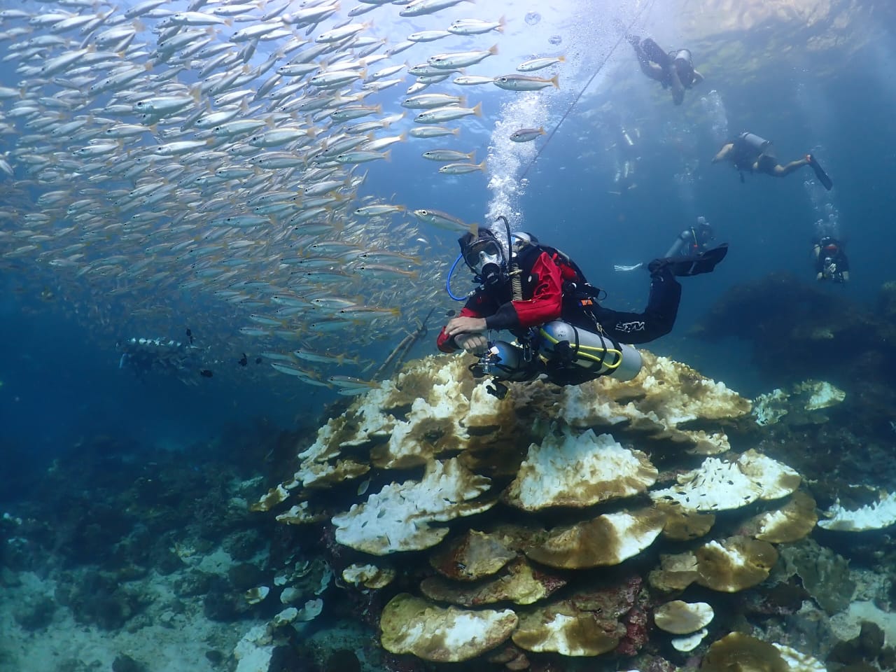
<path fill-rule="evenodd" d="M 859 589 L 807 539 L 811 484 L 762 446 L 843 393 L 808 382 L 760 413 L 643 358 L 628 383 L 522 383 L 500 400 L 464 358 L 413 362 L 299 444 L 253 509 L 322 530 L 394 670 L 823 670 L 837 637 L 806 622 Z M 867 517 L 847 508 L 831 521 Z"/>

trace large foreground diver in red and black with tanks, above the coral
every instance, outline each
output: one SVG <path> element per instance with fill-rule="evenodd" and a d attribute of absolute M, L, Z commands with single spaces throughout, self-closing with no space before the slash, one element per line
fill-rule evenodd
<path fill-rule="evenodd" d="M 498 219 L 504 221 L 510 259 L 491 229 L 458 240 L 479 287 L 436 340 L 443 352 L 463 349 L 479 355 L 470 371 L 475 377 L 492 375 L 495 381 L 547 377 L 552 383 L 575 385 L 599 375 L 632 379 L 641 369 L 641 356 L 620 341 L 646 343 L 671 332 L 681 299 L 675 276 L 710 272 L 728 251 L 719 246 L 714 254 L 655 259 L 648 264 L 647 307 L 642 313 L 624 313 L 599 305 L 600 290 L 568 255 L 531 234 L 511 234 L 507 220 Z M 489 340 L 487 332 L 502 329 L 517 342 Z M 488 391 L 503 397 L 507 387 L 495 383 Z"/>

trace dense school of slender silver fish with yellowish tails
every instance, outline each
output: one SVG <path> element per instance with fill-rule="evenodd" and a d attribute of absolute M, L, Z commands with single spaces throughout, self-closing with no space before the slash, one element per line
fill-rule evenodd
<path fill-rule="evenodd" d="M 104 333 L 192 320 L 217 360 L 261 352 L 267 371 L 366 391 L 358 350 L 388 352 L 441 300 L 451 260 L 424 263 L 428 229 L 470 227 L 360 195 L 366 171 L 405 142 L 442 162 L 438 173 L 485 171 L 457 146 L 463 120 L 481 115 L 461 92 L 558 85 L 556 75 L 477 74 L 504 18 L 444 25 L 439 13 L 461 1 L 5 4 L 0 268 L 52 283 L 48 295 Z M 388 43 L 376 32 L 387 4 L 433 30 Z M 436 40 L 458 48 L 435 53 Z M 406 61 L 410 48 L 429 51 Z M 436 90 L 451 77 L 464 89 Z M 390 89 L 404 90 L 403 111 L 367 102 Z"/>

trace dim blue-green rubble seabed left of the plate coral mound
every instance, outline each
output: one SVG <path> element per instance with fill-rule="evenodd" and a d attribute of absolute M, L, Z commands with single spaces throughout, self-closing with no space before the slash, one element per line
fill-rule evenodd
<path fill-rule="evenodd" d="M 248 513 L 259 465 L 281 440 L 250 426 L 183 450 L 99 436 L 63 452 L 30 497 L 0 515 L 9 605 L 0 610 L 0 668 L 233 665 L 240 631 L 266 627 L 286 606 L 275 603 L 271 549 L 289 529 Z M 295 538 L 290 546 L 295 553 Z M 294 582 L 297 607 L 316 597 L 326 570 L 308 566 L 311 582 Z M 260 599 L 246 599 L 247 591 Z"/>

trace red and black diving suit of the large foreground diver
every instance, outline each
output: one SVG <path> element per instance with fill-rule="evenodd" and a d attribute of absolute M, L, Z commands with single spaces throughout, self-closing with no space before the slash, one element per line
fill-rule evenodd
<path fill-rule="evenodd" d="M 681 285 L 668 268 L 652 276 L 650 299 L 643 313 L 623 313 L 599 306 L 597 289 L 565 254 L 553 247 L 527 246 L 517 256 L 521 269 L 522 300 L 513 301 L 511 283 L 479 288 L 461 310 L 461 317 L 485 317 L 488 329 L 507 329 L 525 337 L 530 327 L 552 320 L 597 332 L 623 343 L 646 343 L 672 331 L 681 299 Z M 439 333 L 443 352 L 458 349 L 454 339 Z"/>

